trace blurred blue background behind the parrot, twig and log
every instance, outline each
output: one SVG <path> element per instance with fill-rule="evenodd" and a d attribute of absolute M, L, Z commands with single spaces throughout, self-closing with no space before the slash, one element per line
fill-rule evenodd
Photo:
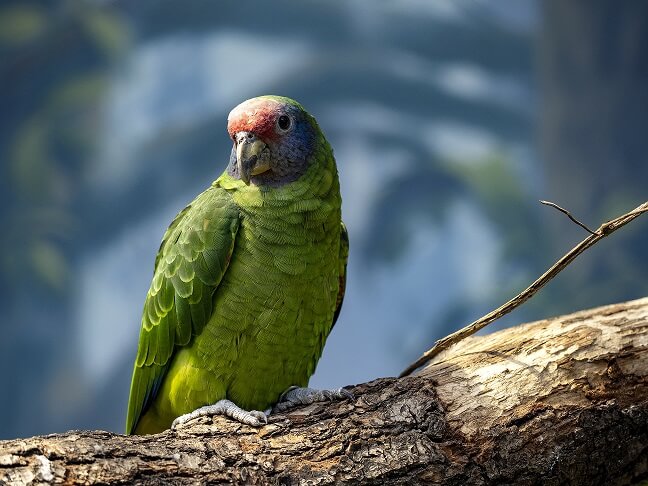
<path fill-rule="evenodd" d="M 338 160 L 347 296 L 311 384 L 397 375 L 648 199 L 648 2 L 4 0 L 0 438 L 123 431 L 173 216 L 229 110 L 301 101 Z M 493 328 L 648 294 L 648 220 Z M 489 328 L 490 329 L 490 328 Z"/>

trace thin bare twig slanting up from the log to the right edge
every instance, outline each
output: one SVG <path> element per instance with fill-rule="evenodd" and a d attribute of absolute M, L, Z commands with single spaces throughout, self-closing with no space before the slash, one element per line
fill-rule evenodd
<path fill-rule="evenodd" d="M 550 204 L 551 205 L 551 204 Z M 554 206 L 555 207 L 555 206 Z M 562 208 L 557 208 L 562 210 L 565 214 L 568 216 L 569 213 Z M 489 312 L 485 316 L 477 319 L 473 323 L 469 324 L 468 326 L 459 329 L 456 332 L 453 332 L 452 334 L 439 339 L 434 346 L 423 353 L 419 359 L 417 359 L 414 363 L 409 365 L 401 374 L 400 377 L 407 376 L 414 371 L 416 371 L 418 368 L 421 366 L 427 364 L 430 362 L 435 356 L 437 356 L 441 351 L 444 351 L 448 349 L 450 346 L 452 346 L 455 343 L 458 343 L 459 341 L 467 338 L 468 336 L 471 336 L 475 334 L 477 331 L 480 329 L 483 329 L 486 327 L 488 324 L 491 322 L 496 321 L 502 316 L 505 316 L 509 312 L 511 312 L 513 309 L 519 307 L 523 303 L 525 303 L 527 300 L 529 300 L 535 293 L 540 290 L 542 287 L 544 287 L 552 278 L 554 278 L 558 273 L 560 273 L 562 270 L 565 269 L 567 265 L 569 265 L 578 255 L 583 253 L 585 250 L 587 250 L 589 247 L 593 246 L 596 244 L 598 241 L 602 240 L 609 234 L 612 234 L 619 228 L 625 226 L 628 224 L 630 221 L 633 219 L 637 218 L 641 214 L 648 212 L 648 201 L 643 203 L 642 205 L 636 207 L 632 211 L 625 213 L 611 221 L 608 221 L 607 223 L 603 223 L 597 230 L 596 232 L 593 232 L 591 235 L 589 235 L 587 238 L 585 238 L 583 241 L 581 241 L 578 245 L 576 245 L 574 248 L 572 248 L 571 251 L 569 251 L 567 254 L 565 254 L 560 260 L 558 260 L 556 263 L 553 264 L 549 270 L 547 270 L 545 273 L 543 273 L 540 277 L 538 277 L 537 280 L 535 280 L 531 285 L 529 285 L 526 289 L 524 289 L 522 292 L 520 292 L 518 295 L 513 297 L 511 300 L 506 302 L 505 304 L 501 305 L 497 309 Z M 570 216 L 571 217 L 571 216 Z M 574 220 L 572 218 L 572 220 Z M 582 225 L 578 221 L 574 220 L 577 224 Z"/>

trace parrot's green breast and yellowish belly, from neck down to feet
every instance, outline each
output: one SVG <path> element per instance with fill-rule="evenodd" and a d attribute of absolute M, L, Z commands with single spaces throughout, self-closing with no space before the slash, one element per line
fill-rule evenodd
<path fill-rule="evenodd" d="M 320 172 L 315 182 L 315 190 L 234 193 L 241 225 L 232 257 L 213 315 L 169 369 L 170 415 L 222 398 L 264 410 L 308 384 L 339 292 L 337 175 Z"/>

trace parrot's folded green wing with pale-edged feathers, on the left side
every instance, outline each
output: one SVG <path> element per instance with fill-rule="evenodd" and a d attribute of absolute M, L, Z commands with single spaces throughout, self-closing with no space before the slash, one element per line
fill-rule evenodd
<path fill-rule="evenodd" d="M 126 433 L 155 398 L 178 346 L 200 333 L 230 261 L 239 213 L 219 187 L 200 194 L 173 220 L 155 259 L 133 370 Z"/>

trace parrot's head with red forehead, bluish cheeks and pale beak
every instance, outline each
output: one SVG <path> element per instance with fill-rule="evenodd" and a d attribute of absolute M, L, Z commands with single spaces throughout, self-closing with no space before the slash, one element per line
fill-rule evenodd
<path fill-rule="evenodd" d="M 228 172 L 245 184 L 281 186 L 308 169 L 319 127 L 290 98 L 260 96 L 244 101 L 227 117 L 234 146 Z"/>

